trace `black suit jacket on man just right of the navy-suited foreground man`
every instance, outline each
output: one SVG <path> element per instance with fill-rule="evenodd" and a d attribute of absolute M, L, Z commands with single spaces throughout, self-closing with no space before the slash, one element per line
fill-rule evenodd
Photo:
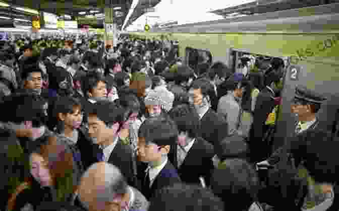
<path fill-rule="evenodd" d="M 210 143 L 201 137 L 196 138 L 184 162 L 177 168 L 181 180 L 186 183 L 200 184 L 199 177 L 202 176 L 208 186 L 214 169 L 212 161 L 214 154 L 213 146 Z M 175 167 L 178 166 L 177 159 L 173 163 Z"/>

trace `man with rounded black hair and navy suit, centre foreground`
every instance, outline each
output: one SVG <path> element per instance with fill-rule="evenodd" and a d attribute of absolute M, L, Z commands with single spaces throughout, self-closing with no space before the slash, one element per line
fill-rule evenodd
<path fill-rule="evenodd" d="M 138 158 L 141 162 L 148 163 L 148 168 L 142 175 L 141 192 L 147 199 L 156 190 L 181 182 L 176 168 L 167 157 L 177 139 L 177 126 L 168 117 L 149 118 L 140 126 Z"/>

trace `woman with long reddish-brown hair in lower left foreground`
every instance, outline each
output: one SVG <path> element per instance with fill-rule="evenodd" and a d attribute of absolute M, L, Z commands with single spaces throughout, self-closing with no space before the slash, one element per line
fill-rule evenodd
<path fill-rule="evenodd" d="M 43 201 L 67 201 L 74 199 L 72 153 L 49 137 L 29 153 L 29 176 L 10 197 L 7 210 L 33 209 Z"/>

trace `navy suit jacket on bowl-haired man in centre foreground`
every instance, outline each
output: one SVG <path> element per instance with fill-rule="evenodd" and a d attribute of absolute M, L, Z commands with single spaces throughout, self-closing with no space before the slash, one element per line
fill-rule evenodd
<path fill-rule="evenodd" d="M 146 178 L 146 172 L 144 172 L 143 178 Z M 149 200 L 154 196 L 156 190 L 179 182 L 181 182 L 181 179 L 177 173 L 177 170 L 172 165 L 171 161 L 168 160 L 160 173 L 155 177 L 151 187 L 146 187 L 144 182 L 142 183 L 141 192 L 144 194 L 147 200 Z"/>

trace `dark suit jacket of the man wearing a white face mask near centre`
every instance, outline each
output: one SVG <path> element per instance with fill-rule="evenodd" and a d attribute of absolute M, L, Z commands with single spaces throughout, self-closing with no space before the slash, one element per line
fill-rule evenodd
<path fill-rule="evenodd" d="M 215 146 L 220 143 L 224 137 L 228 136 L 228 123 L 224 117 L 215 113 L 211 108 L 200 119 L 200 136 Z"/>

